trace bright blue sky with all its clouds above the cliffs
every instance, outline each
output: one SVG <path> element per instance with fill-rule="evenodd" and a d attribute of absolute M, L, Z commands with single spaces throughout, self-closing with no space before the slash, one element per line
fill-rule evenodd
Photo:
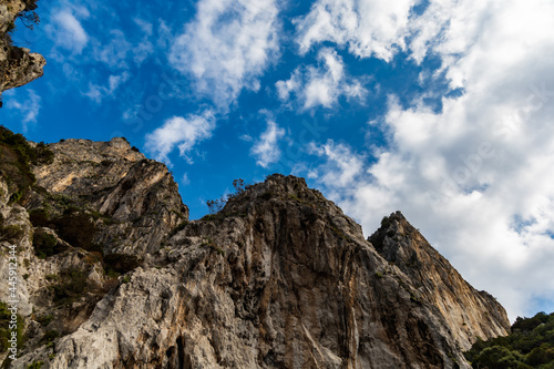
<path fill-rule="evenodd" d="M 554 309 L 554 3 L 40 1 L 30 140 L 125 136 L 191 217 L 280 172 L 371 234 L 400 209 L 512 319 Z"/>

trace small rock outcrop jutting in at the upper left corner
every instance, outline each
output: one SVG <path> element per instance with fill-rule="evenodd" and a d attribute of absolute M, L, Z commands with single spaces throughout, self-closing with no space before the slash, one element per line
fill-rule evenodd
<path fill-rule="evenodd" d="M 10 31 L 18 17 L 31 13 L 34 0 L 7 0 L 0 3 L 0 106 L 2 91 L 19 88 L 42 76 L 44 58 L 29 49 L 14 47 Z"/>

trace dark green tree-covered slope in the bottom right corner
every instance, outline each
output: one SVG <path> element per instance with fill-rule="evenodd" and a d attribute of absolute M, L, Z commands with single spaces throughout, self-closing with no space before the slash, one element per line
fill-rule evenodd
<path fill-rule="evenodd" d="M 511 335 L 478 340 L 464 355 L 473 368 L 554 369 L 554 312 L 517 317 Z"/>

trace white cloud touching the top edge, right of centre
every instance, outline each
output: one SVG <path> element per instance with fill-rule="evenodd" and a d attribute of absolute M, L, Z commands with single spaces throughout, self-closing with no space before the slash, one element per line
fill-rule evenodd
<path fill-rule="evenodd" d="M 301 53 L 331 41 L 361 58 L 390 61 L 406 48 L 410 9 L 417 0 L 318 0 L 296 19 Z"/>

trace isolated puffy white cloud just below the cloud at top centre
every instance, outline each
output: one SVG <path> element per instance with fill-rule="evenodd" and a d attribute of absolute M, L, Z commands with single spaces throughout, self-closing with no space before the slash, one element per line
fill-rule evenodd
<path fill-rule="evenodd" d="M 294 93 L 306 110 L 317 105 L 331 107 L 341 95 L 347 99 L 366 95 L 361 83 L 345 73 L 345 63 L 335 50 L 324 48 L 317 59 L 321 64 L 318 68 L 298 68 L 289 80 L 275 84 L 280 100 L 287 101 Z"/>

